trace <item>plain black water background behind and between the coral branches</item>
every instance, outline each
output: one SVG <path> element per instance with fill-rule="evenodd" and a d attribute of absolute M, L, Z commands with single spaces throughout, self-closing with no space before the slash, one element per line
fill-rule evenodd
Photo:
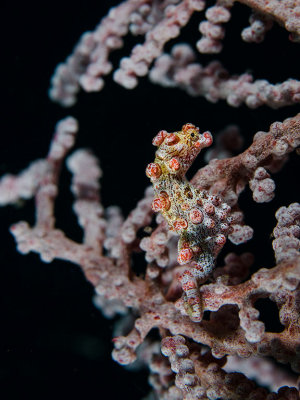
<path fill-rule="evenodd" d="M 45 156 L 55 123 L 72 115 L 80 124 L 75 148 L 91 148 L 100 159 L 104 205 L 117 204 L 126 215 L 149 184 L 144 170 L 154 156 L 152 137 L 160 129 L 170 132 L 192 122 L 201 130 L 215 133 L 236 123 L 247 147 L 256 131 L 267 131 L 272 122 L 299 111 L 297 106 L 280 110 L 249 110 L 245 106 L 234 109 L 223 101 L 211 104 L 177 89 L 160 88 L 147 78 L 129 91 L 115 84 L 111 76 L 100 93 L 81 92 L 70 109 L 52 103 L 47 91 L 55 66 L 71 53 L 80 35 L 94 29 L 110 6 L 116 4 L 118 1 L 103 0 L 86 0 L 78 5 L 57 0 L 1 3 L 1 174 L 17 173 Z M 272 83 L 299 79 L 299 47 L 288 41 L 288 33 L 282 28 L 275 26 L 262 44 L 246 44 L 240 39 L 248 16 L 249 9 L 235 5 L 222 54 L 201 56 L 200 62 L 205 65 L 218 58 L 231 73 L 250 71 L 255 79 Z M 183 30 L 181 41 L 196 43 L 199 21 L 200 16 L 195 15 Z M 125 40 L 125 48 L 112 56 L 115 67 L 141 38 Z M 169 43 L 167 49 L 175 42 L 178 40 Z M 200 156 L 190 176 L 203 163 Z M 219 265 L 228 251 L 253 251 L 253 270 L 274 265 L 270 237 L 274 213 L 281 205 L 299 199 L 297 168 L 299 162 L 294 154 L 274 176 L 276 198 L 269 204 L 254 203 L 249 189 L 242 194 L 240 204 L 255 236 L 238 248 L 226 245 Z M 69 173 L 64 170 L 56 206 L 57 227 L 80 240 L 81 231 L 71 204 Z M 23 208 L 3 208 L 0 216 L 1 398 L 144 397 L 149 390 L 147 373 L 129 372 L 111 360 L 113 322 L 104 319 L 93 306 L 93 289 L 79 268 L 61 261 L 43 264 L 36 254 L 22 256 L 15 250 L 8 228 L 23 219 L 33 223 L 33 201 Z M 265 301 L 257 306 L 267 329 L 280 330 L 274 305 Z"/>

